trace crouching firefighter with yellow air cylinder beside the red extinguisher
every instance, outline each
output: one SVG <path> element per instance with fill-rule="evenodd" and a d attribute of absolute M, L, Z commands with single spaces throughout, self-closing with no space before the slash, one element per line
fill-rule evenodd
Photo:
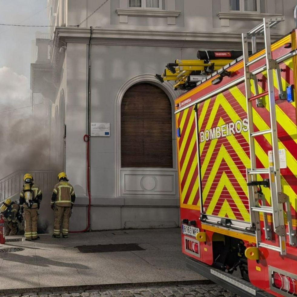
<path fill-rule="evenodd" d="M 6 199 L 0 207 L 5 221 L 5 236 L 17 235 L 18 222 L 22 222 L 22 215 L 18 200 L 11 201 Z"/>

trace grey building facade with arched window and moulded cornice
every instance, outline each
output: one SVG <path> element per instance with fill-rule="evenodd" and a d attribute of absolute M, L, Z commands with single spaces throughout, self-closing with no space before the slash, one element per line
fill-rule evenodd
<path fill-rule="evenodd" d="M 295 5 L 48 0 L 50 40 L 36 41 L 31 89 L 49 102 L 51 163 L 77 195 L 71 228 L 86 227 L 88 192 L 91 230 L 178 226 L 173 111 L 180 92 L 154 75 L 175 59 L 195 59 L 197 50 L 240 50 L 242 32 L 285 15 L 271 30 L 277 39 L 295 26 Z M 189 186 L 191 176 L 183 182 Z"/>

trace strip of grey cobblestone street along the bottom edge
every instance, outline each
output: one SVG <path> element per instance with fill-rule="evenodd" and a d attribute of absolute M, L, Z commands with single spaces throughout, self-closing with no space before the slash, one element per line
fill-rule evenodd
<path fill-rule="evenodd" d="M 31 292 L 8 294 L 5 297 L 236 297 L 237 295 L 215 285 L 170 285 L 140 288 L 117 288 L 75 292 Z M 1 297 L 4 297 L 2 295 Z"/>

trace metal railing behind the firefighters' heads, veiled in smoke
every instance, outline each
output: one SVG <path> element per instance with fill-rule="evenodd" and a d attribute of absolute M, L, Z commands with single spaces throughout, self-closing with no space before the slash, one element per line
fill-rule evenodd
<path fill-rule="evenodd" d="M 54 171 L 47 170 L 19 170 L 0 180 L 0 202 L 7 198 L 13 198 L 21 192 L 23 176 L 26 172 L 33 175 L 34 183 L 42 192 L 51 192 L 54 188 L 56 176 Z"/>

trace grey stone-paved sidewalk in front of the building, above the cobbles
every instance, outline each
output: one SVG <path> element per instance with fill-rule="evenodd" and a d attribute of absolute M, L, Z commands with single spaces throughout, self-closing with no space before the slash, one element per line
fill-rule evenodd
<path fill-rule="evenodd" d="M 42 234 L 40 240 L 0 245 L 0 290 L 104 284 L 203 281 L 186 268 L 180 228 Z M 10 236 L 9 239 L 21 239 Z M 8 238 L 6 238 L 8 239 Z M 82 253 L 77 246 L 136 243 L 144 250 Z M 4 248 L 20 251 L 3 252 Z"/>

